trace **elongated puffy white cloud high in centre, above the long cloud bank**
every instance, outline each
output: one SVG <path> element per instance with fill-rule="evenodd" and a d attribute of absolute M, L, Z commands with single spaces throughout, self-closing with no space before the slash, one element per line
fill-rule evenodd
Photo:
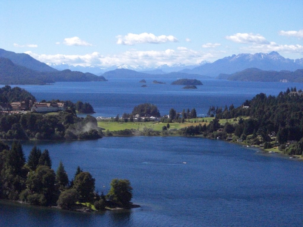
<path fill-rule="evenodd" d="M 166 42 L 178 42 L 178 39 L 172 35 L 155 36 L 154 34 L 146 33 L 146 32 L 141 34 L 128 33 L 124 37 L 122 37 L 122 35 L 118 35 L 116 38 L 118 38 L 117 44 L 122 44 L 122 45 L 134 45 L 138 43 L 159 44 Z"/>

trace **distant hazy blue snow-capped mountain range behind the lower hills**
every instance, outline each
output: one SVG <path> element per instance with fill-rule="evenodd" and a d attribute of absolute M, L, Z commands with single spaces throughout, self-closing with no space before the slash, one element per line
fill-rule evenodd
<path fill-rule="evenodd" d="M 147 74 L 167 74 L 170 72 L 181 72 L 188 74 L 198 74 L 210 77 L 217 77 L 219 74 L 232 74 L 238 71 L 245 70 L 247 68 L 259 68 L 261 70 L 288 70 L 295 71 L 297 69 L 303 69 L 303 58 L 289 59 L 284 58 L 278 52 L 272 51 L 269 54 L 256 53 L 256 54 L 238 54 L 232 55 L 225 58 L 218 59 L 214 62 L 202 61 L 197 65 L 184 65 L 175 64 L 168 66 L 167 64 L 159 67 L 147 67 L 147 66 L 128 66 L 128 65 L 117 65 L 108 68 L 100 68 L 98 66 L 82 67 L 82 66 L 71 66 L 68 64 L 50 64 L 56 69 L 70 69 L 78 70 L 82 72 L 91 72 L 97 75 L 102 75 L 106 71 L 112 71 L 115 69 L 129 69 L 139 71 Z"/>

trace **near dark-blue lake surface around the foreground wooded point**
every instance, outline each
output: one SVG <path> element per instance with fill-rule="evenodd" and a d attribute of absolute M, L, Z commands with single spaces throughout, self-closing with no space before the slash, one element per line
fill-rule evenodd
<path fill-rule="evenodd" d="M 106 137 L 94 141 L 35 143 L 53 168 L 68 176 L 77 166 L 107 193 L 127 178 L 133 202 L 124 212 L 82 214 L 5 204 L 1 226 L 302 226 L 303 165 L 220 140 L 186 137 Z M 24 144 L 28 156 L 33 142 Z M 103 187 L 105 186 L 105 187 Z M 22 219 L 20 219 L 22 217 Z M 37 224 L 38 223 L 38 224 Z"/>

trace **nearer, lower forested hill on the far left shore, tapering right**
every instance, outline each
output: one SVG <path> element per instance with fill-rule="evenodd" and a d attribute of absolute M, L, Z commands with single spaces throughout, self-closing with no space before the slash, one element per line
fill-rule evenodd
<path fill-rule="evenodd" d="M 70 70 L 38 72 L 0 58 L 0 84 L 48 84 L 59 81 L 106 81 L 103 76 Z"/>

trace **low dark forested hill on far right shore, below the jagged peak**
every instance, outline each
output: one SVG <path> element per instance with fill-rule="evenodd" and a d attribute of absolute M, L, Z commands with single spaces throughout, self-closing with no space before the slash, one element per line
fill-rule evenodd
<path fill-rule="evenodd" d="M 296 71 L 264 71 L 258 68 L 248 68 L 233 74 L 220 74 L 218 79 L 230 81 L 261 81 L 261 82 L 303 82 L 303 69 Z"/>

